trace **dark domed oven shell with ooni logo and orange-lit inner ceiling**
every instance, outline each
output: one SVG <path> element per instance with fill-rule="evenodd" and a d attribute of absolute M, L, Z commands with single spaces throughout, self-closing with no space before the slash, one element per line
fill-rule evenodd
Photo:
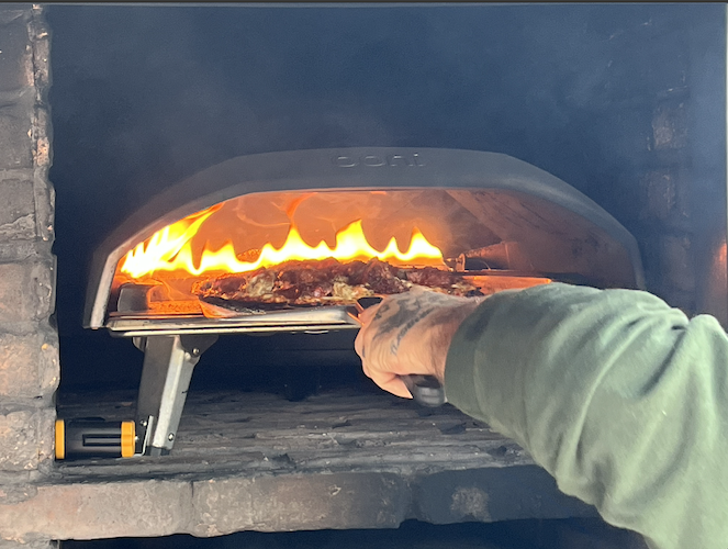
<path fill-rule="evenodd" d="M 292 209 L 292 205 L 295 208 Z M 643 288 L 635 238 L 606 211 L 555 176 L 496 153 L 345 148 L 240 156 L 167 189 L 97 249 L 83 324 L 104 325 L 115 276 L 130 250 L 165 227 L 211 211 L 190 242 L 243 256 L 279 247 L 295 225 L 311 246 L 335 244 L 360 223 L 378 250 L 413 231 L 450 268 L 517 271 L 600 288 Z M 457 264 L 457 265 L 456 265 Z"/>

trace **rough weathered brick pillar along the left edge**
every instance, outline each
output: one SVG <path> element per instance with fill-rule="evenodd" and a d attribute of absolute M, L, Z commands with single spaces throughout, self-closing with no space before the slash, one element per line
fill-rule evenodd
<path fill-rule="evenodd" d="M 0 7 L 0 513 L 32 495 L 53 464 L 59 366 L 48 47 L 42 8 Z"/>

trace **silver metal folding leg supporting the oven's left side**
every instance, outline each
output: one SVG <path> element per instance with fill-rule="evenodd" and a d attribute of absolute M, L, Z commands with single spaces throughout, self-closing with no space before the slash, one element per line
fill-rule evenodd
<path fill-rule="evenodd" d="M 136 453 L 170 452 L 177 436 L 192 370 L 216 335 L 166 335 L 134 338 L 144 351 L 136 404 Z"/>

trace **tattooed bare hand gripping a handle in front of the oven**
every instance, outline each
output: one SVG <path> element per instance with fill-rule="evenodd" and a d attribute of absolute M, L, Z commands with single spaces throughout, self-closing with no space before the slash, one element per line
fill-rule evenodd
<path fill-rule="evenodd" d="M 435 376 L 443 383 L 452 336 L 483 299 L 414 288 L 367 309 L 359 316 L 362 327 L 355 341 L 363 372 L 405 399 L 412 395 L 400 376 Z"/>

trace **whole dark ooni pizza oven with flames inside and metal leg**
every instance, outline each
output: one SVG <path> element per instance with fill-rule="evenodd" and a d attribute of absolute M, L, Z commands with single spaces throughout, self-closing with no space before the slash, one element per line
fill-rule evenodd
<path fill-rule="evenodd" d="M 137 453 L 172 448 L 192 369 L 220 335 L 357 328 L 347 300 L 378 293 L 368 280 L 306 293 L 251 279 L 331 257 L 437 270 L 462 282 L 463 294 L 549 280 L 645 285 L 627 229 L 562 180 L 503 154 L 345 148 L 233 158 L 150 200 L 94 254 L 85 326 L 133 338 L 145 354 Z"/>

